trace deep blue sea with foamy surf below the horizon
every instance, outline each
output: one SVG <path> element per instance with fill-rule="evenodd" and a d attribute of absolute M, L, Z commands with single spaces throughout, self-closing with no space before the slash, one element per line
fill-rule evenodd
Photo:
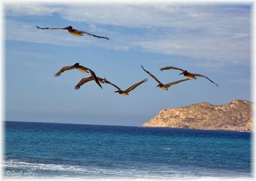
<path fill-rule="evenodd" d="M 252 177 L 250 132 L 5 122 L 6 177 Z"/>

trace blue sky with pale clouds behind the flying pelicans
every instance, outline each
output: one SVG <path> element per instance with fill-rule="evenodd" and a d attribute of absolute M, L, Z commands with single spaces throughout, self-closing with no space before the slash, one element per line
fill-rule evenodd
<path fill-rule="evenodd" d="M 252 100 L 248 4 L 5 3 L 4 13 L 6 120 L 142 125 L 161 109 Z M 36 25 L 71 25 L 110 40 Z M 76 91 L 90 75 L 72 70 L 53 76 L 76 62 L 123 89 L 148 82 L 127 97 L 93 82 Z M 220 87 L 199 78 L 163 91 L 141 65 L 163 83 L 184 78 L 159 71 L 175 66 L 207 75 Z"/>

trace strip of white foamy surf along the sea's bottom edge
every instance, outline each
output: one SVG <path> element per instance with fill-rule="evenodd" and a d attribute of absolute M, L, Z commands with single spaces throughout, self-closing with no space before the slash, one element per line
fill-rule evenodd
<path fill-rule="evenodd" d="M 10 159 L 3 161 L 3 167 L 6 170 L 18 169 L 18 170 L 26 170 L 26 169 L 35 169 L 35 177 L 86 177 L 86 178 L 129 178 L 140 180 L 143 178 L 216 178 L 216 177 L 226 177 L 227 171 L 218 171 L 216 174 L 216 170 L 198 170 L 191 171 L 191 169 L 187 168 L 184 170 L 180 170 L 175 167 L 166 167 L 159 168 L 156 166 L 155 169 L 138 169 L 138 168 L 102 168 L 100 166 L 77 166 L 71 164 L 44 164 L 40 162 L 25 162 L 17 159 Z M 199 174 L 198 174 L 199 173 Z M 230 175 L 234 175 L 230 174 Z M 250 178 L 250 175 L 240 175 L 237 177 Z M 225 180 L 227 180 L 225 178 Z"/>

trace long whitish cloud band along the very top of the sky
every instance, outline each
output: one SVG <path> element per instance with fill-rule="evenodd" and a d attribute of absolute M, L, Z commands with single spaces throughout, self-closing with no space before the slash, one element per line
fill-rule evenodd
<path fill-rule="evenodd" d="M 5 10 L 6 15 L 52 15 L 52 13 L 58 13 L 63 19 L 74 22 L 129 28 L 147 28 L 150 26 L 158 28 L 205 28 L 205 25 L 214 25 L 214 28 L 227 29 L 227 22 L 236 20 L 238 24 L 233 24 L 233 26 L 241 26 L 242 22 L 246 24 L 249 21 L 249 12 L 244 13 L 241 8 L 182 6 L 172 3 L 10 3 L 6 4 Z M 230 11 L 227 12 L 227 10 Z"/>

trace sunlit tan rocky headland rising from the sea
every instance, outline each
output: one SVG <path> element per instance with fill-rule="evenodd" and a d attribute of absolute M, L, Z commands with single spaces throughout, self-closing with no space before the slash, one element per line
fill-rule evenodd
<path fill-rule="evenodd" d="M 252 131 L 252 102 L 233 100 L 220 106 L 202 102 L 164 109 L 143 126 Z"/>

